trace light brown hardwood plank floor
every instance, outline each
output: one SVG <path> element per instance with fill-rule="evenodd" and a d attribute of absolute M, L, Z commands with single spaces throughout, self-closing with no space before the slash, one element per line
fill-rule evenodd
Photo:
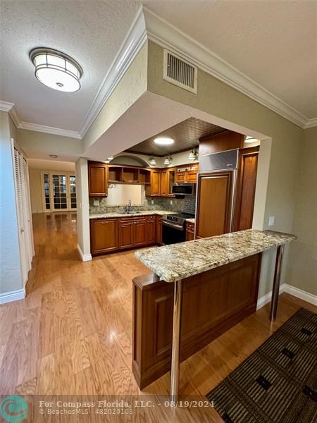
<path fill-rule="evenodd" d="M 27 297 L 0 306 L 0 395 L 139 395 L 131 371 L 132 278 L 149 270 L 132 251 L 81 262 L 73 213 L 34 214 L 33 225 L 35 258 Z M 268 320 L 266 305 L 182 362 L 181 398 L 204 399 L 299 307 L 316 311 L 284 293 L 274 324 Z M 166 395 L 169 383 L 166 374 L 142 395 Z M 40 417 L 32 421 L 43 421 Z M 111 420 L 111 416 L 67 418 L 63 422 Z M 111 421 L 166 420 L 222 421 L 209 407 L 163 406 L 137 409 L 133 417 L 116 416 Z"/>

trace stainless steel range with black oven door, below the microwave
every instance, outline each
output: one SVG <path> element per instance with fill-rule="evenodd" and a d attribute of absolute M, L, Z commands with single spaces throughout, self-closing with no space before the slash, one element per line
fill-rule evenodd
<path fill-rule="evenodd" d="M 182 243 L 186 240 L 186 219 L 193 219 L 194 214 L 175 213 L 163 215 L 163 244 Z"/>

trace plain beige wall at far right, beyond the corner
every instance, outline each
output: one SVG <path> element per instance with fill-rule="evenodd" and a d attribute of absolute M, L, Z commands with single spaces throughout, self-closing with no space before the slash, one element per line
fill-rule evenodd
<path fill-rule="evenodd" d="M 317 295 L 317 128 L 304 130 L 295 184 L 293 232 L 286 282 Z"/>

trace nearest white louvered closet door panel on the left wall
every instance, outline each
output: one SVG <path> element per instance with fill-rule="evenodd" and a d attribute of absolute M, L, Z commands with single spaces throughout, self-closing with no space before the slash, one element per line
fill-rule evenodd
<path fill-rule="evenodd" d="M 20 260 L 23 284 L 27 282 L 28 274 L 28 257 L 27 257 L 27 240 L 25 233 L 25 219 L 23 218 L 23 171 L 20 164 L 20 153 L 14 149 L 14 170 L 15 170 L 15 193 L 16 207 L 18 214 L 18 231 L 20 243 Z"/>

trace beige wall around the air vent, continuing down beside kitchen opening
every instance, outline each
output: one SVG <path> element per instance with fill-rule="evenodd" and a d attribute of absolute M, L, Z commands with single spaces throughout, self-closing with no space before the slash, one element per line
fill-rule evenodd
<path fill-rule="evenodd" d="M 303 137 L 302 128 L 204 71 L 198 71 L 197 94 L 192 94 L 164 81 L 163 48 L 153 42 L 149 42 L 148 90 L 271 137 L 263 228 L 268 228 L 268 216 L 274 215 L 275 226 L 272 227 L 274 230 L 292 231 L 294 180 L 299 145 Z M 263 141 L 263 143 L 265 142 Z M 286 262 L 287 248 L 285 253 Z M 263 254 L 259 297 L 268 293 L 272 288 L 274 260 L 274 251 Z M 282 282 L 285 281 L 285 269 L 284 264 Z"/>

